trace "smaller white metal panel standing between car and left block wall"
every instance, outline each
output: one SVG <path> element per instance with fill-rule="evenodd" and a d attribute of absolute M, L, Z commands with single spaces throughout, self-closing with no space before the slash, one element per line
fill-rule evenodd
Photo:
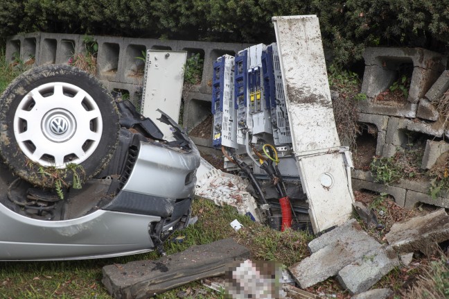
<path fill-rule="evenodd" d="M 166 139 L 171 139 L 172 132 L 157 121 L 161 114 L 156 110 L 164 111 L 175 121 L 179 119 L 186 57 L 186 51 L 148 50 L 146 55 L 141 113 L 155 121 Z"/>

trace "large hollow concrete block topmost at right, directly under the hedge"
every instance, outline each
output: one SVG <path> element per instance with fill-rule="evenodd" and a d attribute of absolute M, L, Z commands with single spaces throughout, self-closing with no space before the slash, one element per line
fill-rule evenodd
<path fill-rule="evenodd" d="M 447 58 L 421 48 L 367 48 L 362 92 L 374 97 L 394 83 L 400 66 L 413 67 L 407 101 L 417 103 L 446 69 Z"/>

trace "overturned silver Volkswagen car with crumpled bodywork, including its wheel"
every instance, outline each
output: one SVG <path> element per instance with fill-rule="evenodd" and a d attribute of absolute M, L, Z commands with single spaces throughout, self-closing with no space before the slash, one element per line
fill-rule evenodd
<path fill-rule="evenodd" d="M 0 99 L 0 259 L 143 253 L 185 228 L 200 155 L 160 113 L 173 140 L 74 67 L 16 78 Z"/>

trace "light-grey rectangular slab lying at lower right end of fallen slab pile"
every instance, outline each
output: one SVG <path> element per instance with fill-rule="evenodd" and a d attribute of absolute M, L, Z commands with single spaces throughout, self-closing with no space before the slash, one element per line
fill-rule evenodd
<path fill-rule="evenodd" d="M 351 295 L 360 293 L 369 290 L 399 264 L 398 255 L 393 248 L 385 246 L 342 268 L 338 272 L 337 280 Z"/>

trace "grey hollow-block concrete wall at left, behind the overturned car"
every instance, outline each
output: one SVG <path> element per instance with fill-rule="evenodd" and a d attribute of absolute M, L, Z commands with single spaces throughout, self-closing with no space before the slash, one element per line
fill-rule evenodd
<path fill-rule="evenodd" d="M 211 79 L 213 62 L 224 54 L 235 55 L 250 44 L 197 42 L 184 40 L 156 40 L 145 38 L 93 36 L 98 42 L 97 76 L 110 90 L 130 92 L 134 105 L 140 105 L 143 85 L 142 57 L 148 49 L 187 51 L 188 58 L 200 53 L 204 60 L 201 83 L 194 86 L 184 99 L 184 126 L 191 130 L 211 114 Z M 22 60 L 35 57 L 34 65 L 67 63 L 71 56 L 85 51 L 83 35 L 56 33 L 28 33 L 14 35 L 6 41 L 6 57 L 14 61 L 14 53 Z M 212 135 L 212 132 L 211 132 Z M 211 138 L 195 140 L 211 146 Z"/>

